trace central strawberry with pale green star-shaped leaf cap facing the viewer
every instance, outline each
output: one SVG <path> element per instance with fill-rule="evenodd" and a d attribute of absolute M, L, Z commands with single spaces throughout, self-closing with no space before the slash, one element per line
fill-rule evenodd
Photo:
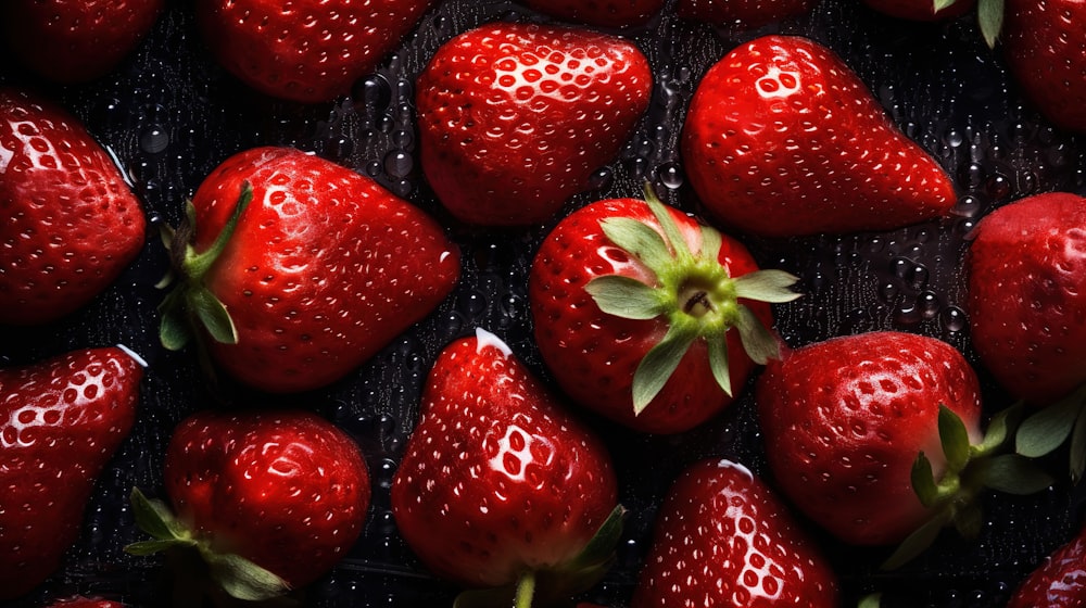
<path fill-rule="evenodd" d="M 673 433 L 727 407 L 755 364 L 776 356 L 767 303 L 798 294 L 785 289 L 795 277 L 758 271 L 742 243 L 646 194 L 563 219 L 535 255 L 529 301 L 566 393 L 631 428 Z"/>

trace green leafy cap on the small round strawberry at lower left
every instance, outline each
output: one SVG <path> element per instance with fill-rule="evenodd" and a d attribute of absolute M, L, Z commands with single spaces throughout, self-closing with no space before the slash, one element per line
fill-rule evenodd
<path fill-rule="evenodd" d="M 130 498 L 136 524 L 151 540 L 126 546 L 126 553 L 148 556 L 174 549 L 194 550 L 207 565 L 212 579 L 238 599 L 264 601 L 290 591 L 290 585 L 274 572 L 239 555 L 216 552 L 206 539 L 193 535 L 161 501 L 148 498 L 136 487 Z"/>

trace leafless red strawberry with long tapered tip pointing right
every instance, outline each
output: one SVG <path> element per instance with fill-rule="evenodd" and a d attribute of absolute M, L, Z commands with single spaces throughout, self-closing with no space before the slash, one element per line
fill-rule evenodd
<path fill-rule="evenodd" d="M 757 38 L 709 68 L 681 147 L 706 208 L 766 237 L 898 228 L 957 200 L 863 83 L 806 38 Z"/>

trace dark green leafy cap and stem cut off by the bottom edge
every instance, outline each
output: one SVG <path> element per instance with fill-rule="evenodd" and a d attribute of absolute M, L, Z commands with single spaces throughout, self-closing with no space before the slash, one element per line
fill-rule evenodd
<path fill-rule="evenodd" d="M 541 570 L 525 570 L 507 586 L 460 593 L 453 608 L 546 608 L 570 599 L 599 582 L 615 560 L 626 508 L 616 506 L 592 540 L 569 561 Z"/>

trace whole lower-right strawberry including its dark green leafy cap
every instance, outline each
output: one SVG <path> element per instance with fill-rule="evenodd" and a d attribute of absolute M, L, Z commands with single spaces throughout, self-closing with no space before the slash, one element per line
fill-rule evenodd
<path fill-rule="evenodd" d="M 894 565 L 944 524 L 975 534 L 982 487 L 1025 494 L 1051 483 L 1000 453 L 1010 411 L 982 436 L 976 375 L 934 338 L 876 331 L 787 352 L 767 366 L 755 398 L 783 493 L 846 543 L 907 541 Z"/>

